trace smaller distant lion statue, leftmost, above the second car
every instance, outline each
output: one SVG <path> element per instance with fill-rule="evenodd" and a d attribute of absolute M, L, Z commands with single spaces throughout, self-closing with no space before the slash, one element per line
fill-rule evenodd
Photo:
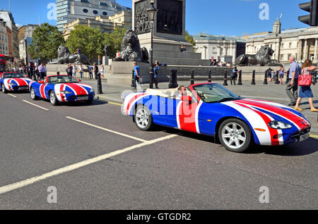
<path fill-rule="evenodd" d="M 89 65 L 90 61 L 85 54 L 71 54 L 66 46 L 60 45 L 57 49 L 57 63 L 83 63 L 84 65 Z"/>

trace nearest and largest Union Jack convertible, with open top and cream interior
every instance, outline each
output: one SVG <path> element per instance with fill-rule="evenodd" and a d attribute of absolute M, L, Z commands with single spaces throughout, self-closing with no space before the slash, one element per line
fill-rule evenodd
<path fill-rule="evenodd" d="M 254 144 L 278 146 L 310 136 L 310 122 L 288 106 L 243 99 L 217 83 L 190 85 L 185 96 L 177 89 L 147 89 L 128 94 L 123 111 L 140 130 L 163 125 L 219 140 L 225 149 L 247 151 Z"/>

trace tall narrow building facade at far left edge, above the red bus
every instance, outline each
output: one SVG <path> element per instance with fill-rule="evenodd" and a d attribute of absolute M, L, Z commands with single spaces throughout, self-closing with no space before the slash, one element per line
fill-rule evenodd
<path fill-rule="evenodd" d="M 11 14 L 11 12 L 8 12 L 8 11 L 0 11 L 0 19 L 6 22 L 9 55 L 11 54 L 10 56 L 18 58 L 19 57 L 18 27 L 16 27 L 16 23 L 14 22 L 13 15 Z M 10 32 L 10 34 L 8 32 Z"/>

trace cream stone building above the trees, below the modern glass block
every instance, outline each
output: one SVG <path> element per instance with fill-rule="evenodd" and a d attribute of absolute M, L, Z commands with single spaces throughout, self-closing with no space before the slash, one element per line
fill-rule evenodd
<path fill-rule="evenodd" d="M 130 16 L 129 16 L 130 15 Z M 131 11 L 122 11 L 113 16 L 99 15 L 94 19 L 81 19 L 73 20 L 71 23 L 64 25 L 63 37 L 66 40 L 71 34 L 71 30 L 76 25 L 88 25 L 100 29 L 101 32 L 113 32 L 115 27 L 126 27 L 127 30 L 131 29 Z"/>

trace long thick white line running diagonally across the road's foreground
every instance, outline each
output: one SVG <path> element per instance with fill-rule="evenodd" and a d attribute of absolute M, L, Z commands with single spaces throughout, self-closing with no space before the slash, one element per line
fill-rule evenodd
<path fill-rule="evenodd" d="M 64 168 L 59 168 L 57 170 L 53 170 L 49 173 L 45 173 L 43 175 L 38 175 L 34 178 L 30 178 L 30 179 L 27 179 L 27 180 L 22 180 L 20 182 L 16 182 L 16 183 L 13 183 L 11 185 L 6 185 L 4 187 L 0 187 L 0 194 L 4 194 L 6 192 L 11 192 L 15 189 L 19 189 L 21 187 L 25 187 L 25 186 L 28 186 L 28 185 L 33 185 L 35 182 L 39 182 L 41 180 L 45 180 L 47 178 L 52 178 L 56 175 L 61 175 L 62 173 L 67 173 L 67 172 L 70 172 L 70 171 L 73 171 L 73 170 L 77 170 L 78 168 L 83 168 L 84 166 L 88 166 L 90 164 L 93 164 L 93 163 L 98 163 L 100 161 L 103 161 L 107 158 L 111 158 L 111 157 L 114 157 L 114 156 L 118 156 L 120 154 L 124 154 L 125 152 L 127 151 L 132 151 L 134 149 L 139 149 L 141 147 L 146 147 L 148 145 L 151 145 L 151 144 L 155 144 L 157 142 L 162 142 L 164 140 L 167 140 L 167 139 L 172 139 L 173 137 L 177 137 L 177 135 L 168 135 L 166 137 L 160 137 L 158 139 L 153 139 L 151 141 L 147 141 L 147 142 L 143 142 L 143 143 L 140 143 L 140 144 L 136 144 L 132 147 L 127 147 L 125 149 L 120 149 L 120 150 L 117 150 L 117 151 L 113 151 L 109 154 L 104 154 L 102 156 L 97 156 L 95 158 L 90 158 L 90 159 L 87 159 L 85 161 L 81 161 L 79 163 L 74 163 L 73 165 L 70 165 L 70 166 L 66 166 Z"/>

